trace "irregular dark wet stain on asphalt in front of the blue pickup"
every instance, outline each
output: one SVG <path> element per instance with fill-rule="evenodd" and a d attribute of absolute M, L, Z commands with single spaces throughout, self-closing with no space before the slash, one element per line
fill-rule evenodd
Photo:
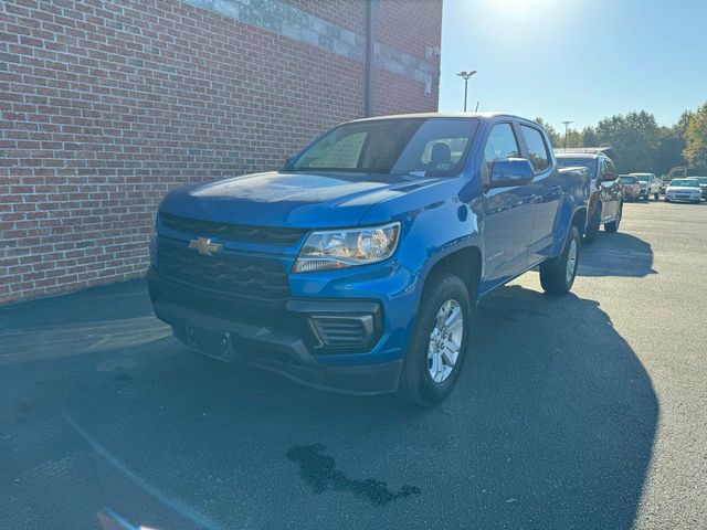
<path fill-rule="evenodd" d="M 388 484 L 374 478 L 356 480 L 348 478 L 336 469 L 333 457 L 321 454 L 326 449 L 323 444 L 296 445 L 287 452 L 287 458 L 299 464 L 299 475 L 315 494 L 327 489 L 348 491 L 372 505 L 384 506 L 398 498 L 420 494 L 415 486 L 403 486 L 393 491 Z"/>

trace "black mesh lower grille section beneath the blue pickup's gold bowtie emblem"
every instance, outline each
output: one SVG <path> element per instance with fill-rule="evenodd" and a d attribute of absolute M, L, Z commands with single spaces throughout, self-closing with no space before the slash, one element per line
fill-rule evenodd
<path fill-rule="evenodd" d="M 157 256 L 158 269 L 165 277 L 194 287 L 267 300 L 289 296 L 287 274 L 276 259 L 204 256 L 163 242 L 158 245 Z"/>

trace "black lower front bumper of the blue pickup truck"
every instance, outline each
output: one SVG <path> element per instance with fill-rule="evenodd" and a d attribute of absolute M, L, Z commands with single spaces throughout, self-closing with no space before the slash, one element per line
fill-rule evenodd
<path fill-rule="evenodd" d="M 175 337 L 197 351 L 211 354 L 190 337 L 194 326 L 228 338 L 228 354 L 215 357 L 275 371 L 309 386 L 356 394 L 389 393 L 398 388 L 400 357 L 390 360 L 391 356 L 377 356 L 386 349 L 387 337 L 383 308 L 376 300 L 254 304 L 176 284 L 155 268 L 148 272 L 148 287 L 155 315 L 172 326 Z M 254 318 L 257 314 L 266 315 L 266 321 Z M 339 329 L 336 322 L 346 326 Z M 359 346 L 337 342 L 337 338 L 351 333 L 360 337 Z M 360 353 L 382 362 L 338 362 L 359 358 Z"/>

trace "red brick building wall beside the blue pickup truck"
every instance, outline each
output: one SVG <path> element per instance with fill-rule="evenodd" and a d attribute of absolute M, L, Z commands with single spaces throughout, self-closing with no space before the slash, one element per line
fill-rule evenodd
<path fill-rule="evenodd" d="M 291 3 L 365 33 L 362 2 Z M 381 42 L 439 46 L 441 2 L 379 3 Z M 168 189 L 278 167 L 362 115 L 363 75 L 179 0 L 1 2 L 0 303 L 141 275 Z M 436 109 L 436 78 L 378 75 L 377 114 Z"/>

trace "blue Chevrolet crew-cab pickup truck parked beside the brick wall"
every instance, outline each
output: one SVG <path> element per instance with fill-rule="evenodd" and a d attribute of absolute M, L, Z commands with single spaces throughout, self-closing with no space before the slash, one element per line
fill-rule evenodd
<path fill-rule="evenodd" d="M 548 294 L 571 288 L 588 190 L 519 117 L 349 121 L 279 171 L 169 192 L 155 314 L 222 360 L 432 404 L 474 347 L 483 296 L 536 266 Z"/>

